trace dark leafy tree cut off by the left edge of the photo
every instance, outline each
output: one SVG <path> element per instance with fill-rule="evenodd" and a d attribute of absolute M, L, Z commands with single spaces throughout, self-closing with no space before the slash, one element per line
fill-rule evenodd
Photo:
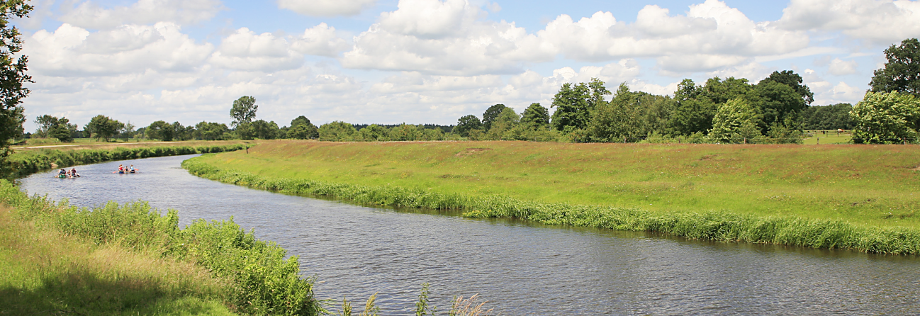
<path fill-rule="evenodd" d="M 29 88 L 23 84 L 32 83 L 26 74 L 28 58 L 20 55 L 22 40 L 19 29 L 9 25 L 11 18 L 22 18 L 29 14 L 32 6 L 24 0 L 6 0 L 0 3 L 0 177 L 13 174 L 13 167 L 6 157 L 12 152 L 9 146 L 21 137 L 26 122 L 24 109 L 19 106 L 29 96 Z M 18 56 L 18 57 L 17 57 Z"/>

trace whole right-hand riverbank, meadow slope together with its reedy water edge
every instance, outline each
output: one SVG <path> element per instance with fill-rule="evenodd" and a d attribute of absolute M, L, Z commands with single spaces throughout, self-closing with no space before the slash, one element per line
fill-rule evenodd
<path fill-rule="evenodd" d="M 918 146 L 267 141 L 188 162 L 291 193 L 692 238 L 917 254 Z"/>

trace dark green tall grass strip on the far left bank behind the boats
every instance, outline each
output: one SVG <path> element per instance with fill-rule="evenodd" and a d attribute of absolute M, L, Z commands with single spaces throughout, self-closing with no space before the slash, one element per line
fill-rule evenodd
<path fill-rule="evenodd" d="M 14 177 L 23 177 L 56 167 L 63 168 L 77 164 L 97 164 L 113 160 L 129 160 L 150 157 L 175 156 L 192 153 L 232 152 L 245 149 L 243 144 L 216 146 L 159 146 L 159 147 L 118 147 L 110 150 L 62 151 L 40 149 L 37 151 L 16 152 L 8 161 L 16 170 Z"/>

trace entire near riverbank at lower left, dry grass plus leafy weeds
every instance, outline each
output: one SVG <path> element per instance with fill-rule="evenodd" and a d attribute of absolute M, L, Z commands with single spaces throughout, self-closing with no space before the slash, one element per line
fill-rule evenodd
<path fill-rule="evenodd" d="M 77 209 L 0 180 L 0 315 L 316 315 L 313 279 L 232 220 Z"/>

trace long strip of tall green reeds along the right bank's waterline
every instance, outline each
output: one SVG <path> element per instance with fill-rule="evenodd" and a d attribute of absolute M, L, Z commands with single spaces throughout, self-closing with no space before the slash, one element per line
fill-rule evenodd
<path fill-rule="evenodd" d="M 399 186 L 358 186 L 289 178 L 268 178 L 220 170 L 199 159 L 182 163 L 192 175 L 240 186 L 295 195 L 348 199 L 367 205 L 465 209 L 472 218 L 515 218 L 547 224 L 621 231 L 658 231 L 719 242 L 776 243 L 814 248 L 853 249 L 880 254 L 920 254 L 920 231 L 861 226 L 843 220 L 794 216 L 732 214 L 725 211 L 652 213 L 642 209 L 543 203 L 504 196 L 472 197 Z"/>

